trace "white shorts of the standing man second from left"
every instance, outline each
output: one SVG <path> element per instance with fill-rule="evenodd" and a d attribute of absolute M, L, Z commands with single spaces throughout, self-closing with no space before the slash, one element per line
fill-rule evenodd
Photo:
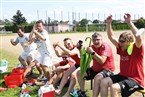
<path fill-rule="evenodd" d="M 37 61 L 43 66 L 52 67 L 52 56 L 48 54 L 40 54 L 39 58 L 37 58 Z"/>

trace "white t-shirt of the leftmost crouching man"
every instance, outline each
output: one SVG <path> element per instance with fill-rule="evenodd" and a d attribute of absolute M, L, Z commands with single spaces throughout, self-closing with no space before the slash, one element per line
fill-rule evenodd
<path fill-rule="evenodd" d="M 31 43 L 28 46 L 23 46 L 24 43 L 28 42 L 28 40 L 29 40 L 29 38 L 26 35 L 24 35 L 23 37 L 17 37 L 17 39 L 16 39 L 16 43 L 21 44 L 24 52 L 30 52 L 30 51 L 36 49 L 36 44 L 35 43 Z"/>

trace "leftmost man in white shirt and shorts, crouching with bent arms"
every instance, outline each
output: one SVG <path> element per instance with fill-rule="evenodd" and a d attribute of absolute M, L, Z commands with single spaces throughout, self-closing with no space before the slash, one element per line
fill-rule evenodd
<path fill-rule="evenodd" d="M 21 44 L 24 51 L 22 52 L 22 54 L 19 56 L 18 59 L 24 67 L 26 67 L 26 62 L 27 62 L 27 64 L 31 66 L 32 68 L 34 66 L 32 64 L 32 61 L 37 58 L 37 54 L 38 54 L 38 51 L 36 50 L 36 44 L 32 43 L 32 41 L 30 41 L 29 38 L 24 34 L 23 27 L 17 28 L 17 34 L 18 34 L 18 37 L 16 38 L 16 40 L 14 41 L 14 39 L 11 39 L 10 42 L 14 46 L 16 46 L 18 43 Z M 40 67 L 38 66 L 36 67 L 39 71 L 39 74 L 41 75 L 42 71 Z M 26 76 L 26 74 L 30 71 L 31 69 L 27 70 L 27 72 L 24 73 L 24 76 Z"/>

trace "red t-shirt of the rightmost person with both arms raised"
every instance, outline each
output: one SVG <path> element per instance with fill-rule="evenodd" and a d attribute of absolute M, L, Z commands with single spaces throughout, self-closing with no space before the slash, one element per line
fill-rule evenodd
<path fill-rule="evenodd" d="M 119 45 L 118 45 L 119 46 Z M 144 47 L 137 48 L 133 45 L 133 51 L 131 55 L 128 55 L 127 51 L 122 51 L 120 46 L 117 48 L 117 54 L 120 55 L 120 75 L 133 78 L 141 86 L 144 87 Z"/>

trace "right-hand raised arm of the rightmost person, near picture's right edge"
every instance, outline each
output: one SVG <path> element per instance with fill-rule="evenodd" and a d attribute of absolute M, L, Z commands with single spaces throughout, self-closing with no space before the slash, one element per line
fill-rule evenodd
<path fill-rule="evenodd" d="M 137 33 L 138 29 L 137 29 L 137 27 L 133 24 L 133 22 L 131 21 L 131 15 L 128 14 L 128 13 L 126 13 L 126 14 L 124 15 L 124 19 L 125 19 L 125 22 L 128 24 L 128 26 L 130 27 L 130 29 L 131 29 L 133 35 L 135 36 L 135 45 L 136 45 L 138 48 L 140 48 L 141 45 L 142 45 L 142 41 L 143 41 L 143 40 L 142 40 L 142 38 L 141 38 L 140 35 L 139 35 L 139 36 L 136 36 L 136 33 Z"/>

